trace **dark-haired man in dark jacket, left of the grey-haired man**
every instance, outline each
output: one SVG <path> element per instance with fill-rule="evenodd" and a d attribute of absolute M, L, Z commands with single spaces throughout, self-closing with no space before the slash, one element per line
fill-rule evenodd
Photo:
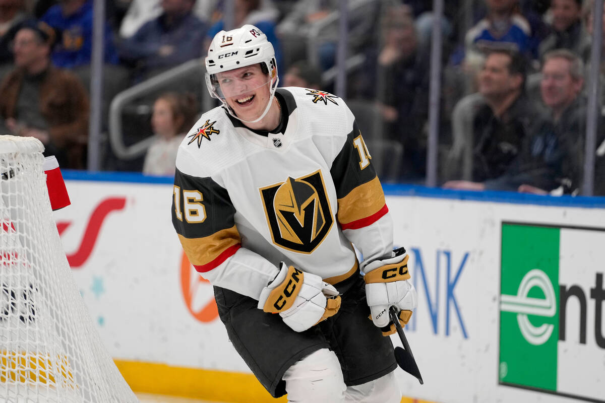
<path fill-rule="evenodd" d="M 517 190 L 511 187 L 511 182 L 502 181 L 502 177 L 511 173 L 511 169 L 517 169 L 515 164 L 523 162 L 518 159 L 523 150 L 531 152 L 535 142 L 548 144 L 554 136 L 551 124 L 525 97 L 525 76 L 526 61 L 520 54 L 505 50 L 489 53 L 479 75 L 479 92 L 487 103 L 474 118 L 473 181 L 448 181 L 444 187 Z M 546 170 L 538 173 L 541 168 L 539 161 L 536 162 L 538 157 L 531 161 L 532 169 L 536 175 L 542 175 Z M 552 178 L 539 176 L 537 179 Z"/>

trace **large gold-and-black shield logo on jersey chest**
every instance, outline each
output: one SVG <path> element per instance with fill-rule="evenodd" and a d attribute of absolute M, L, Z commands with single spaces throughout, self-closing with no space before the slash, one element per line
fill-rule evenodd
<path fill-rule="evenodd" d="M 288 178 L 260 189 L 273 243 L 311 253 L 329 233 L 334 219 L 321 171 Z"/>

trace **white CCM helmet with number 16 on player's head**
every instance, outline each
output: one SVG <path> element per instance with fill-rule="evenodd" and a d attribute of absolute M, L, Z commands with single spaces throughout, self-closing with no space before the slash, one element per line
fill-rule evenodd
<path fill-rule="evenodd" d="M 269 102 L 260 117 L 251 121 L 241 120 L 227 104 L 215 74 L 257 63 L 260 63 L 263 73 L 269 76 Z M 246 123 L 261 120 L 269 111 L 278 82 L 275 50 L 267 36 L 257 27 L 247 24 L 235 30 L 220 31 L 214 36 L 206 56 L 206 85 L 210 95 L 220 99 L 230 115 Z"/>

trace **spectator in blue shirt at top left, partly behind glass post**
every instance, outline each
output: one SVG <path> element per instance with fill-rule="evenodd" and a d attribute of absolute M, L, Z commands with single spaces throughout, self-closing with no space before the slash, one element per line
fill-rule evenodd
<path fill-rule="evenodd" d="M 60 32 L 54 47 L 53 64 L 59 68 L 76 68 L 90 64 L 93 52 L 93 0 L 60 0 L 42 16 L 41 21 Z M 113 32 L 105 24 L 105 62 L 117 64 Z"/>

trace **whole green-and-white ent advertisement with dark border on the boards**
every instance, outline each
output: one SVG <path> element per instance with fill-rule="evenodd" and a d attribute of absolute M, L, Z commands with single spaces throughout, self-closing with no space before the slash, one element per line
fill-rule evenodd
<path fill-rule="evenodd" d="M 502 223 L 499 384 L 605 403 L 603 245 L 605 228 Z"/>

